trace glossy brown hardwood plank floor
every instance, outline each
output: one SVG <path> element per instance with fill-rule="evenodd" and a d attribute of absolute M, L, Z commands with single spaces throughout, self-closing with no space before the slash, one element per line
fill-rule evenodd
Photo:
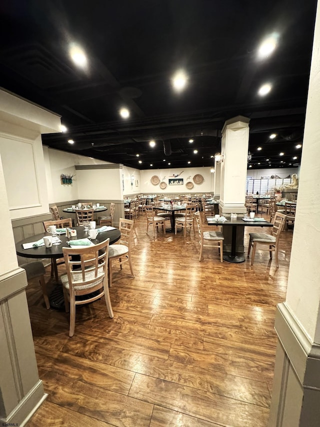
<path fill-rule="evenodd" d="M 135 220 L 135 278 L 113 271 L 110 298 L 68 314 L 46 310 L 40 286 L 27 299 L 47 399 L 27 423 L 94 427 L 259 427 L 268 420 L 275 306 L 285 299 L 292 231 L 279 268 L 256 251 L 254 266 L 220 263 L 198 235 L 145 233 Z M 245 249 L 248 232 L 245 228 Z M 261 231 L 257 228 L 257 231 Z M 59 266 L 59 272 L 63 272 Z M 46 269 L 49 280 L 49 267 Z M 52 283 L 48 283 L 52 287 Z"/>

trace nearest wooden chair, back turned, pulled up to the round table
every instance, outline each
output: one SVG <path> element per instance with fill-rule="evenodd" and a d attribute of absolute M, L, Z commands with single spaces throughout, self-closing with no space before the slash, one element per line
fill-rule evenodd
<path fill-rule="evenodd" d="M 62 248 L 66 273 L 60 280 L 65 311 L 70 311 L 69 336 L 74 335 L 77 305 L 96 301 L 104 295 L 109 317 L 113 317 L 107 275 L 108 248 L 109 239 L 86 248 Z"/>

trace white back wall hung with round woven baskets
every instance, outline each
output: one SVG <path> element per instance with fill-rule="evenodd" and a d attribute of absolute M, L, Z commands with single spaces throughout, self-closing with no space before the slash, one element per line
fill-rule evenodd
<path fill-rule="evenodd" d="M 204 178 L 203 183 L 197 185 L 193 181 L 193 177 L 197 174 L 202 175 Z M 165 182 L 166 188 L 161 189 L 159 184 L 153 185 L 151 178 L 153 175 L 159 177 L 160 183 Z M 178 178 L 183 179 L 183 185 L 168 185 L 168 179 L 174 178 L 173 175 L 179 175 Z M 185 184 L 191 182 L 193 184 L 192 189 L 187 189 Z M 210 172 L 209 167 L 203 168 L 182 168 L 180 169 L 156 169 L 156 170 L 144 170 L 141 171 L 141 192 L 147 194 L 188 194 L 188 193 L 212 193 L 213 192 L 213 174 Z"/>

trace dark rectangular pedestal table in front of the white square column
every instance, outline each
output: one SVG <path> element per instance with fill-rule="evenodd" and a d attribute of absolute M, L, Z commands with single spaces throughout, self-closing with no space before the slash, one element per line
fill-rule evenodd
<path fill-rule="evenodd" d="M 261 220 L 261 218 L 253 218 L 252 220 L 250 218 L 230 218 L 227 217 L 225 221 L 217 221 L 214 217 L 207 217 L 207 224 L 208 225 L 218 225 L 223 227 L 232 227 L 231 230 L 231 252 L 230 253 L 224 253 L 223 259 L 227 262 L 244 262 L 245 258 L 243 253 L 236 253 L 236 238 L 237 233 L 239 232 L 240 228 L 244 227 L 272 227 L 273 224 L 266 220 Z"/>

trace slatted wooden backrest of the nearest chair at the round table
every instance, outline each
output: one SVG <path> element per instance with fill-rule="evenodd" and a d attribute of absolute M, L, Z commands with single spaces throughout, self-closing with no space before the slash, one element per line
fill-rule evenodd
<path fill-rule="evenodd" d="M 81 249 L 76 247 L 62 248 L 70 295 L 74 292 L 74 286 L 85 286 L 92 283 L 99 284 L 100 282 L 101 287 L 108 286 L 107 263 L 109 240 L 106 239 L 97 245 Z"/>

